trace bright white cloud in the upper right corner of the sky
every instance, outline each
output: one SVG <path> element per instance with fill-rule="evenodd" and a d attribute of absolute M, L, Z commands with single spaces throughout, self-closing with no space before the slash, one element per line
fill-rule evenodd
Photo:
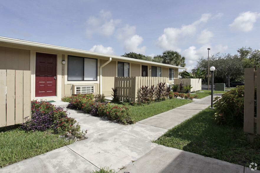
<path fill-rule="evenodd" d="M 229 28 L 234 31 L 249 32 L 253 29 L 256 19 L 260 13 L 253 13 L 250 11 L 240 13 L 238 17 L 229 25 Z"/>

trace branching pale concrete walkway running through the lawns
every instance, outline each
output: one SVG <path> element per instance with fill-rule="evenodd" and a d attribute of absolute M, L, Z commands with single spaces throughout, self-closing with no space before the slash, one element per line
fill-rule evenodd
<path fill-rule="evenodd" d="M 91 172 L 106 166 L 122 173 L 250 172 L 241 165 L 151 142 L 210 106 L 210 96 L 194 100 L 127 126 L 68 110 L 69 116 L 88 130 L 88 139 L 6 166 L 0 172 Z"/>

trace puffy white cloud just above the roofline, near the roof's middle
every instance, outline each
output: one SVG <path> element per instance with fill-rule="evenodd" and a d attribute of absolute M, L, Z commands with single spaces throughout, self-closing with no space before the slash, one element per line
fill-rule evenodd
<path fill-rule="evenodd" d="M 138 48 L 144 39 L 139 35 L 134 35 L 124 42 L 124 50 L 127 52 L 135 52 L 137 54 L 145 54 L 146 46 Z"/>

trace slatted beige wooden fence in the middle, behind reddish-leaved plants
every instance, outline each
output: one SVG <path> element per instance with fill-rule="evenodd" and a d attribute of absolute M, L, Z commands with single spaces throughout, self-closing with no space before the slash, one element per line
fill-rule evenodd
<path fill-rule="evenodd" d="M 118 88 L 118 97 L 120 101 L 128 99 L 129 102 L 136 102 L 139 100 L 138 89 L 140 87 L 143 85 L 149 87 L 154 85 L 154 87 L 156 87 L 160 82 L 165 82 L 165 86 L 167 86 L 167 79 L 168 78 L 166 77 L 115 77 L 114 88 Z"/>

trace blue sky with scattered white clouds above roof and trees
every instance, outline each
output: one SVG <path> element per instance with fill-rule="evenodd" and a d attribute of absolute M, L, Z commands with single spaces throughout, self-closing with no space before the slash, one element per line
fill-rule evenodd
<path fill-rule="evenodd" d="M 0 36 L 114 55 L 260 49 L 259 0 L 1 0 Z"/>

